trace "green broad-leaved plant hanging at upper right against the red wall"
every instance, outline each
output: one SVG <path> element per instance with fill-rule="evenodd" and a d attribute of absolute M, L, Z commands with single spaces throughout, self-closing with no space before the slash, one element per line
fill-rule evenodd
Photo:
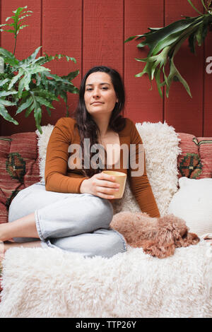
<path fill-rule="evenodd" d="M 148 46 L 148 56 L 143 59 L 136 58 L 136 61 L 146 62 L 146 66 L 141 73 L 137 73 L 135 76 L 141 77 L 144 73 L 147 73 L 150 81 L 153 81 L 155 78 L 161 97 L 163 97 L 162 87 L 164 85 L 166 87 L 166 97 L 169 96 L 172 81 L 182 83 L 189 96 L 192 97 L 187 81 L 184 80 L 175 66 L 175 55 L 182 43 L 187 39 L 189 40 L 191 52 L 195 54 L 196 42 L 197 45 L 202 45 L 207 35 L 208 27 L 212 24 L 212 0 L 207 1 L 207 4 L 204 3 L 204 0 L 201 0 L 206 13 L 198 11 L 191 0 L 187 1 L 199 13 L 199 16 L 184 16 L 184 19 L 177 20 L 164 28 L 148 28 L 150 32 L 132 36 L 125 40 L 125 42 L 129 42 L 135 38 L 136 40 L 145 38 L 145 40 L 139 42 L 137 47 Z M 163 82 L 160 81 L 161 74 Z"/>

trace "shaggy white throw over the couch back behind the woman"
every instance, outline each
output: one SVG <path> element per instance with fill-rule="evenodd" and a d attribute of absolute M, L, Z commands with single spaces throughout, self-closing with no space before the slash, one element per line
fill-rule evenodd
<path fill-rule="evenodd" d="M 37 130 L 39 165 L 41 181 L 45 182 L 45 160 L 49 137 L 54 126 L 48 124 L 42 126 L 42 134 Z M 143 141 L 146 155 L 146 172 L 153 189 L 155 201 L 158 204 L 160 215 L 167 213 L 167 208 L 172 196 L 177 191 L 177 156 L 181 152 L 179 138 L 175 129 L 166 122 L 137 123 L 136 129 Z M 129 181 L 126 181 L 126 189 L 121 199 L 114 200 L 114 213 L 120 211 L 141 211 L 139 204 L 131 193 Z"/>

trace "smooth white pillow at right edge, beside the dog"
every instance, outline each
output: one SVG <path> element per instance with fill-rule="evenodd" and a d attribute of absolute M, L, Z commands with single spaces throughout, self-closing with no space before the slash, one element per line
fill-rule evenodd
<path fill-rule="evenodd" d="M 167 213 L 184 219 L 199 237 L 212 233 L 212 179 L 181 177 Z"/>

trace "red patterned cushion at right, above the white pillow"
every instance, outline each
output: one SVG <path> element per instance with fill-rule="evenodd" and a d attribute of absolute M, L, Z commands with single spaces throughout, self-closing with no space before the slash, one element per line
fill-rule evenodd
<path fill-rule="evenodd" d="M 178 177 L 204 179 L 212 177 L 212 138 L 195 137 L 179 133 L 179 148 L 182 153 L 177 158 Z"/>

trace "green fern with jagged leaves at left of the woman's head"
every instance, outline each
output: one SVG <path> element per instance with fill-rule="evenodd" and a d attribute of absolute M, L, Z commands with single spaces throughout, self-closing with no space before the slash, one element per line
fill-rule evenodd
<path fill-rule="evenodd" d="M 19 7 L 13 11 L 13 16 L 6 18 L 6 22 L 11 23 L 0 25 L 1 32 L 12 33 L 15 38 L 13 53 L 0 47 L 0 115 L 18 125 L 18 121 L 9 114 L 11 106 L 16 105 L 16 115 L 25 111 L 25 117 L 28 117 L 34 112 L 36 127 L 42 133 L 42 112 L 46 109 L 50 116 L 51 109 L 54 109 L 54 100 L 59 101 L 61 97 L 66 105 L 66 116 L 69 115 L 67 93 L 78 93 L 78 88 L 71 81 L 78 76 L 79 71 L 72 71 L 66 76 L 50 73 L 50 70 L 43 66 L 47 62 L 65 58 L 66 61 L 76 63 L 76 59 L 64 54 L 48 56 L 46 53 L 42 57 L 37 57 L 41 46 L 37 47 L 30 57 L 16 59 L 14 54 L 18 32 L 28 26 L 23 24 L 23 20 L 33 13 L 26 9 L 27 6 Z"/>

